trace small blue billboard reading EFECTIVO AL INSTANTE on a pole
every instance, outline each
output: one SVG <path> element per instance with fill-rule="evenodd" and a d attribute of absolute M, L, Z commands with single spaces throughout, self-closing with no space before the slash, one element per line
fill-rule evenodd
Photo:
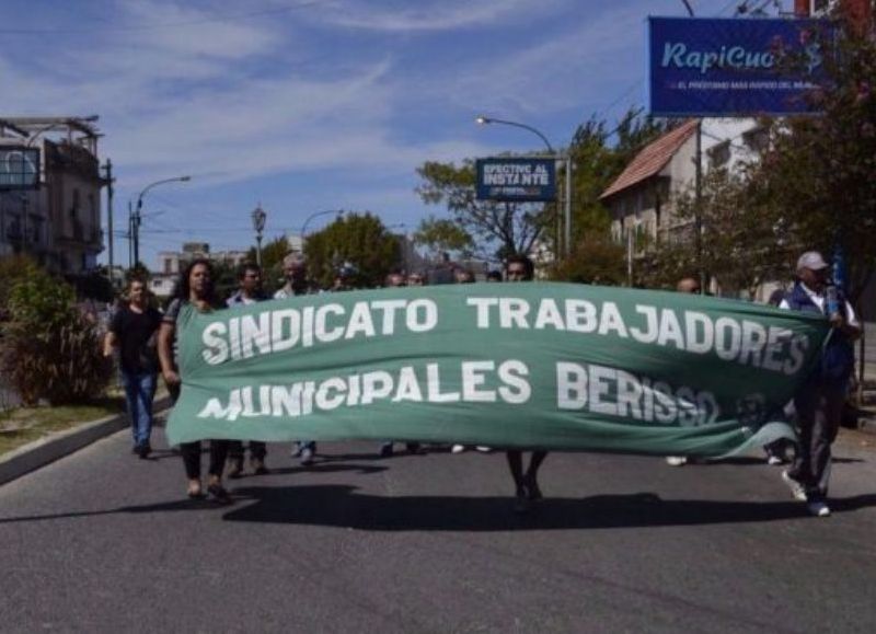
<path fill-rule="evenodd" d="M 556 199 L 554 159 L 479 159 L 477 199 L 538 203 Z"/>

